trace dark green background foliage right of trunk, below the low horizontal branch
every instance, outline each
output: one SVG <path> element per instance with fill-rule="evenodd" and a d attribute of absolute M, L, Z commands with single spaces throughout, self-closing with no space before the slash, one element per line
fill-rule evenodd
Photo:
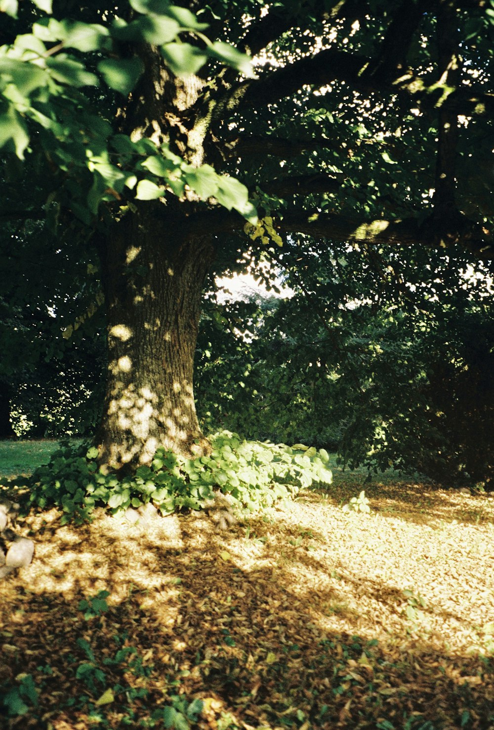
<path fill-rule="evenodd" d="M 274 258 L 290 297 L 221 310 L 206 303 L 197 361 L 204 422 L 246 437 L 302 438 L 369 471 L 488 488 L 490 264 L 458 248 L 334 244 L 330 266 L 308 242 L 299 253 L 303 274 L 289 252 Z"/>

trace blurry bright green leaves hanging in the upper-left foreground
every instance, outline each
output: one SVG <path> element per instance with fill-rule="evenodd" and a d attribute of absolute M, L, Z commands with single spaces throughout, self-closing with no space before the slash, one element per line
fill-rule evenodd
<path fill-rule="evenodd" d="M 200 198 L 215 197 L 227 210 L 255 221 L 245 185 L 216 174 L 210 165 L 186 164 L 165 142 L 114 134 L 111 124 L 87 104 L 85 90 L 103 92 L 106 86 L 128 96 L 143 74 L 137 56 L 115 57 L 122 42 L 152 43 L 177 77 L 196 74 L 211 60 L 253 75 L 248 57 L 227 43 L 206 39 L 208 24 L 188 9 L 138 0 L 130 5 L 135 16 L 130 22 L 114 12 L 104 24 L 42 18 L 31 33 L 0 46 L 0 149 L 23 161 L 35 139 L 52 164 L 79 180 L 68 182 L 65 193 L 83 223 L 93 222 L 101 202 L 120 199 L 125 191 L 135 191 L 136 200 L 152 200 L 167 189 L 181 196 L 186 185 Z M 16 2 L 2 9 L 16 18 Z M 51 4 L 42 9 L 52 14 Z M 191 31 L 205 40 L 203 50 L 179 39 Z M 81 55 L 94 52 L 100 56 L 95 69 Z M 80 180 L 85 180 L 82 187 Z"/>

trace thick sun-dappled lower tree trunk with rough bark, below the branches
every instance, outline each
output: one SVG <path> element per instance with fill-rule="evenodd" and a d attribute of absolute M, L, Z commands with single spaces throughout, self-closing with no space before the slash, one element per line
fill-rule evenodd
<path fill-rule="evenodd" d="M 101 245 L 109 370 L 97 435 L 112 469 L 149 464 L 158 447 L 201 456 L 192 374 L 209 239 L 187 239 L 165 206 L 144 204 Z M 183 221 L 184 219 L 182 219 Z"/>

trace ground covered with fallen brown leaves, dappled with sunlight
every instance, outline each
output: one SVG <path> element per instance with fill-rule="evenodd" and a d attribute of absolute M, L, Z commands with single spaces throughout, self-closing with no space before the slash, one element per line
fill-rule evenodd
<path fill-rule="evenodd" d="M 494 499 L 377 484 L 359 515 L 345 484 L 226 533 L 200 515 L 26 518 L 34 563 L 0 583 L 0 682 L 30 674 L 39 704 L 0 727 L 162 728 L 149 715 L 177 694 L 219 730 L 494 729 Z M 101 590 L 109 610 L 86 621 Z M 105 672 L 93 688 L 77 639 Z M 136 655 L 104 664 L 122 643 L 133 671 Z"/>

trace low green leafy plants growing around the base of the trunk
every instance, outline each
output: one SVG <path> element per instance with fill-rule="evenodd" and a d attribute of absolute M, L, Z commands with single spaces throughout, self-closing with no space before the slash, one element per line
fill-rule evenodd
<path fill-rule="evenodd" d="M 160 449 L 150 466 L 121 479 L 98 468 L 96 447 L 66 445 L 28 479 L 29 500 L 42 508 L 56 504 L 63 522 L 90 518 L 98 504 L 112 514 L 148 502 L 162 514 L 200 510 L 211 504 L 215 490 L 229 495 L 240 510 L 255 512 L 296 496 L 300 488 L 332 480 L 325 450 L 243 441 L 230 431 L 215 434 L 211 445 L 211 454 L 197 459 Z"/>

